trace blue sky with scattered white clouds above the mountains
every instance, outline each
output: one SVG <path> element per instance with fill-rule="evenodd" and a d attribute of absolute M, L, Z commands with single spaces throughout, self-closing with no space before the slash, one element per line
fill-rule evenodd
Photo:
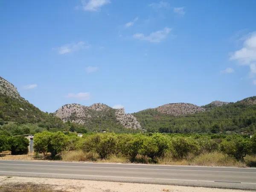
<path fill-rule="evenodd" d="M 256 95 L 255 0 L 1 0 L 0 76 L 42 111 Z"/>

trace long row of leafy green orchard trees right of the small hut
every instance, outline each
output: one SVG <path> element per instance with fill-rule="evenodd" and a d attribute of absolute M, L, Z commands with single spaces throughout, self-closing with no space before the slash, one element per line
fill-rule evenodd
<path fill-rule="evenodd" d="M 189 155 L 221 151 L 236 160 L 243 162 L 247 154 L 256 153 L 256 134 L 252 139 L 240 135 L 226 138 L 211 138 L 209 136 L 194 135 L 189 137 L 165 134 L 90 134 L 82 138 L 75 135 L 65 135 L 62 132 L 42 132 L 35 134 L 34 148 L 36 152 L 57 154 L 69 150 L 83 150 L 95 152 L 100 158 L 108 158 L 111 154 L 121 154 L 129 157 L 131 162 L 138 161 L 139 156 L 147 157 L 151 162 L 165 155 L 175 160 L 182 160 Z"/>

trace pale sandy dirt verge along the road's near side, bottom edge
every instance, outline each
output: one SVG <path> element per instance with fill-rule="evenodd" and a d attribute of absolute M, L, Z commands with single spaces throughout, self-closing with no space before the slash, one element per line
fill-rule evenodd
<path fill-rule="evenodd" d="M 11 189 L 11 190 L 10 190 Z M 0 192 L 241 192 L 244 190 L 0 176 Z"/>

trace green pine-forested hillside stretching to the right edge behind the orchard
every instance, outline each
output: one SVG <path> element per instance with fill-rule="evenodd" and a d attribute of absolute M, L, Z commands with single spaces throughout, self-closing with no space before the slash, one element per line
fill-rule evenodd
<path fill-rule="evenodd" d="M 134 113 L 142 128 L 151 132 L 253 132 L 256 128 L 256 96 L 187 116 L 171 116 L 156 109 Z"/>

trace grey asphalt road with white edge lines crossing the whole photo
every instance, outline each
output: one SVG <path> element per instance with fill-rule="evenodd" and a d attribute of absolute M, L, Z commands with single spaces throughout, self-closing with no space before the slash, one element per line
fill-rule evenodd
<path fill-rule="evenodd" d="M 0 175 L 256 190 L 255 168 L 0 160 Z"/>

